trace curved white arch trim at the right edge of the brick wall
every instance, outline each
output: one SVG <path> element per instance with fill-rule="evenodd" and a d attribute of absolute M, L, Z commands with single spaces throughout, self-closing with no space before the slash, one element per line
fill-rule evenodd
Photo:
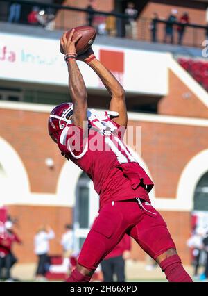
<path fill-rule="evenodd" d="M 193 197 L 200 178 L 208 171 L 208 149 L 200 151 L 187 163 L 177 186 L 177 202 L 188 211 L 193 210 Z"/>

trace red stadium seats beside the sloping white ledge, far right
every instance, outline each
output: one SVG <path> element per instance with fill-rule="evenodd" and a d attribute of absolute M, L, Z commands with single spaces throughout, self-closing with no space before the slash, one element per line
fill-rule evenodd
<path fill-rule="evenodd" d="M 178 58 L 177 61 L 208 91 L 208 62 L 191 58 Z"/>

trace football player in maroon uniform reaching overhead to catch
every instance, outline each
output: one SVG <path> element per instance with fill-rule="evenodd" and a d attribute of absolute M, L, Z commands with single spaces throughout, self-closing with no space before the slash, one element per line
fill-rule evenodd
<path fill-rule="evenodd" d="M 60 104 L 52 110 L 49 134 L 62 155 L 92 179 L 100 197 L 100 210 L 67 281 L 90 281 L 98 264 L 125 233 L 157 261 L 168 281 L 192 281 L 182 266 L 166 222 L 150 204 L 148 192 L 153 181 L 122 140 L 128 123 L 125 91 L 92 49 L 77 56 L 75 45 L 81 35 L 72 41 L 73 32 L 68 40 L 65 33 L 60 39 L 73 104 Z M 110 93 L 109 112 L 87 109 L 87 90 L 78 59 L 94 70 Z"/>

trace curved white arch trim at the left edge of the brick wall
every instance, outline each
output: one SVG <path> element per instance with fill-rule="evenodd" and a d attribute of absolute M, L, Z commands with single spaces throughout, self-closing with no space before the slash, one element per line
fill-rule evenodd
<path fill-rule="evenodd" d="M 6 174 L 6 186 L 1 192 L 1 204 L 18 204 L 26 201 L 30 192 L 28 174 L 17 151 L 0 137 L 0 163 Z"/>

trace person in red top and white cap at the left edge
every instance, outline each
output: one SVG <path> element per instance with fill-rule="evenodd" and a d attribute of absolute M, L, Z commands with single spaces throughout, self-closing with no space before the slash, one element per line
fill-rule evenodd
<path fill-rule="evenodd" d="M 13 223 L 11 221 L 5 222 L 5 229 L 4 236 L 0 237 L 0 279 L 14 281 L 11 277 L 10 270 L 17 262 L 17 258 L 12 252 L 12 247 L 14 242 L 20 244 L 21 240 L 13 230 Z M 3 268 L 5 268 L 5 274 L 3 274 Z"/>

